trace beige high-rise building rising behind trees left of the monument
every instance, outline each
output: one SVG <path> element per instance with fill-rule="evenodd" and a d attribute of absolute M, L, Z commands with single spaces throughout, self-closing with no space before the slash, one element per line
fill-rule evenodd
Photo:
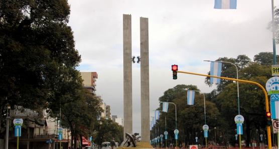
<path fill-rule="evenodd" d="M 92 94 L 95 95 L 96 91 L 96 79 L 98 79 L 97 72 L 80 72 L 81 78 L 83 79 L 83 86 L 90 90 Z"/>

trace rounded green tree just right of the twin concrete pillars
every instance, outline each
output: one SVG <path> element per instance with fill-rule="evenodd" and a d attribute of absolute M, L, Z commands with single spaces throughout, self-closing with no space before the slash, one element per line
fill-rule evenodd
<path fill-rule="evenodd" d="M 179 129 L 179 142 L 184 144 L 193 144 L 195 142 L 196 132 L 201 135 L 200 131 L 205 124 L 204 117 L 204 97 L 200 93 L 195 95 L 195 104 L 187 105 L 187 91 L 186 90 L 199 90 L 194 85 L 177 85 L 172 89 L 168 89 L 164 92 L 164 95 L 159 98 L 159 101 L 174 102 L 177 105 L 177 122 Z M 162 106 L 162 105 L 160 105 Z M 158 110 L 162 107 L 158 108 Z M 206 118 L 207 124 L 210 127 L 217 125 L 216 117 L 219 117 L 220 113 L 216 105 L 207 100 L 206 96 Z M 167 128 L 165 128 L 165 117 L 167 122 Z M 155 134 L 155 129 L 159 127 L 159 133 Z M 174 141 L 174 129 L 175 129 L 175 107 L 169 104 L 169 110 L 167 113 L 162 112 L 158 123 L 153 127 L 151 132 L 151 138 L 156 135 L 163 134 L 167 129 L 169 132 L 169 141 Z M 203 132 L 202 132 L 203 133 Z M 203 135 L 203 134 L 202 134 Z"/>

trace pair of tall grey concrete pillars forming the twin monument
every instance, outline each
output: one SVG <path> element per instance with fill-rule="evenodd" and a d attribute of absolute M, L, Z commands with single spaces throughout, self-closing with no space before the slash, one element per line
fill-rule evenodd
<path fill-rule="evenodd" d="M 148 18 L 140 18 L 141 36 L 141 139 L 150 141 L 149 114 L 149 36 Z M 131 15 L 123 15 L 123 107 L 124 136 L 132 133 L 132 46 Z"/>

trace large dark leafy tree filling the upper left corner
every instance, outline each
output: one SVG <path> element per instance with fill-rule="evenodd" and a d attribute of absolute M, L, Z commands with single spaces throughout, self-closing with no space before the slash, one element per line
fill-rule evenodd
<path fill-rule="evenodd" d="M 81 88 L 69 14 L 66 0 L 0 2 L 0 114 L 7 103 L 55 110 Z"/>

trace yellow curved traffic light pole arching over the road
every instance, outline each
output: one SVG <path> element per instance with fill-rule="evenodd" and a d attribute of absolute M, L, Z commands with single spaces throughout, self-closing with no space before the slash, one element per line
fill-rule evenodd
<path fill-rule="evenodd" d="M 254 84 L 257 85 L 259 88 L 264 93 L 264 98 L 265 98 L 265 111 L 269 112 L 269 106 L 268 106 L 268 98 L 267 98 L 267 93 L 262 85 L 260 85 L 257 82 L 254 81 L 248 81 L 248 80 L 241 80 L 241 79 L 234 79 L 234 78 L 227 78 L 227 77 L 217 77 L 217 76 L 211 76 L 211 75 L 205 75 L 205 74 L 199 74 L 199 73 L 193 73 L 193 72 L 186 72 L 186 71 L 177 71 L 178 73 L 186 73 L 186 74 L 192 74 L 192 75 L 198 75 L 198 76 L 205 76 L 205 77 L 213 77 L 213 78 L 219 78 L 223 80 L 231 80 L 231 81 L 237 81 L 237 82 L 242 82 L 242 83 L 248 83 L 248 84 Z M 267 131 L 267 142 L 268 142 L 268 149 L 271 149 L 271 134 L 270 134 L 270 126 L 266 126 L 266 131 Z"/>

